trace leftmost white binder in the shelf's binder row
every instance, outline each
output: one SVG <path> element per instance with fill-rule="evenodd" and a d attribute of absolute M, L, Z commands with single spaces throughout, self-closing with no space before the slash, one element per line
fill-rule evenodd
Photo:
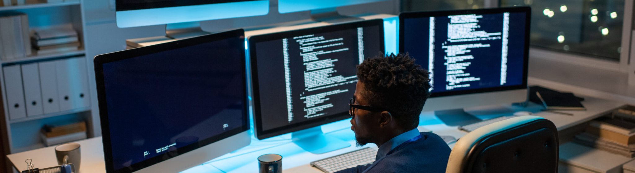
<path fill-rule="evenodd" d="M 9 119 L 15 120 L 27 117 L 27 110 L 24 107 L 24 91 L 22 89 L 20 65 L 3 67 L 3 72 Z"/>

